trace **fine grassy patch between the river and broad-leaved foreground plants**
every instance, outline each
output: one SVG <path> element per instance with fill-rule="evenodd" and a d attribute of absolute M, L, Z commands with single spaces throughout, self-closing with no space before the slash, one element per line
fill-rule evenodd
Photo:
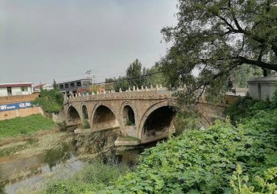
<path fill-rule="evenodd" d="M 46 188 L 47 194 L 89 194 L 98 193 L 100 189 L 106 188 L 110 182 L 116 181 L 120 175 L 129 168 L 114 161 L 92 161 L 82 168 L 82 170 L 69 179 L 55 180 Z"/>

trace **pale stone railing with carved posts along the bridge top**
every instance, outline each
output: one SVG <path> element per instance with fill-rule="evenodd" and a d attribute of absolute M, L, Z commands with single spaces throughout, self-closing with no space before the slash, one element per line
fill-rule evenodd
<path fill-rule="evenodd" d="M 172 91 L 169 91 L 167 88 L 157 85 L 153 87 L 133 87 L 126 91 L 102 91 L 101 93 L 97 92 L 96 94 L 87 93 L 87 94 L 71 94 L 69 97 L 64 95 L 64 103 L 72 103 L 77 101 L 87 101 L 87 100 L 121 100 L 121 99 L 162 99 L 162 98 L 173 98 Z"/>

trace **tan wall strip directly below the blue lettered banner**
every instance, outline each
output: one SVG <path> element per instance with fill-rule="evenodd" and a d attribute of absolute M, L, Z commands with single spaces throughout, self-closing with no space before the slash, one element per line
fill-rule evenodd
<path fill-rule="evenodd" d="M 15 109 L 10 111 L 0 112 L 0 121 L 15 118 L 17 116 L 30 116 L 32 114 L 43 114 L 41 107 L 31 107 L 26 109 Z"/>

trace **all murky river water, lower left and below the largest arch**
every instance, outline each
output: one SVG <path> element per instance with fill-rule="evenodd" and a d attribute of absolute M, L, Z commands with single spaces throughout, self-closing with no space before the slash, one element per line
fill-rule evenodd
<path fill-rule="evenodd" d="M 145 148 L 152 147 L 154 143 L 133 150 L 116 151 L 119 161 L 128 165 L 134 165 L 137 157 Z M 12 194 L 24 189 L 36 191 L 55 178 L 66 178 L 77 172 L 84 165 L 84 161 L 78 159 L 73 145 L 63 145 L 59 150 L 46 150 L 44 153 L 22 157 L 12 155 L 0 157 L 0 194 Z"/>

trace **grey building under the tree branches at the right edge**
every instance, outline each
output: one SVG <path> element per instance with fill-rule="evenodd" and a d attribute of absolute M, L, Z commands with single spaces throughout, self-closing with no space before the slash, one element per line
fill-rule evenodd
<path fill-rule="evenodd" d="M 249 96 L 256 100 L 269 100 L 274 96 L 276 89 L 277 76 L 268 76 L 262 78 L 251 78 L 248 81 Z"/>

